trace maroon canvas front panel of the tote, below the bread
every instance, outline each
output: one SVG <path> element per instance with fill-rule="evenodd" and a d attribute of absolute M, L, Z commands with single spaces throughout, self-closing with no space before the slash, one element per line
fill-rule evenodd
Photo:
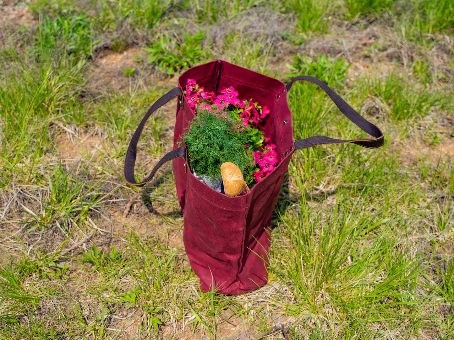
<path fill-rule="evenodd" d="M 207 287 L 228 287 L 240 270 L 247 195 L 228 197 L 187 175 L 183 241 L 191 267 Z"/>

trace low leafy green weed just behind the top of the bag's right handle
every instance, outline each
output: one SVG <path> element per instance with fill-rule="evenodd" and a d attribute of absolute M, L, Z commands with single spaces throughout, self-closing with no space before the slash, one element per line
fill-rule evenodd
<path fill-rule="evenodd" d="M 345 65 L 344 57 L 336 60 L 323 54 L 317 55 L 316 62 L 311 57 L 297 54 L 293 57 L 293 63 L 286 65 L 293 71 L 291 76 L 295 76 L 294 73 L 312 76 L 329 86 L 342 85 L 348 78 L 346 73 L 350 68 L 350 64 Z"/>

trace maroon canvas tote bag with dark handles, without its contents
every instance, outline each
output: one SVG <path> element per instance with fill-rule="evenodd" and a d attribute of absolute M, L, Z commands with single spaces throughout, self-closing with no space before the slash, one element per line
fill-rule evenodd
<path fill-rule="evenodd" d="M 278 165 L 270 175 L 254 185 L 248 194 L 228 197 L 198 180 L 188 169 L 185 145 L 178 147 L 190 125 L 193 112 L 183 95 L 188 79 L 216 94 L 233 86 L 242 98 L 270 109 L 263 130 L 276 144 Z M 312 136 L 293 141 L 291 112 L 287 92 L 295 81 L 307 81 L 321 87 L 340 111 L 372 139 L 339 140 Z M 173 151 L 165 155 L 143 181 L 136 182 L 134 164 L 137 143 L 150 115 L 166 102 L 178 97 Z M 242 99 L 240 98 L 240 99 Z M 241 294 L 267 282 L 270 249 L 271 214 L 281 190 L 291 155 L 298 149 L 320 144 L 354 143 L 366 148 L 383 145 L 380 129 L 361 117 L 325 83 L 310 76 L 298 76 L 290 83 L 253 72 L 222 60 L 192 67 L 178 78 L 178 87 L 159 98 L 138 125 L 126 154 L 124 176 L 131 185 L 144 185 L 165 162 L 173 160 L 178 201 L 183 210 L 183 243 L 192 269 L 200 278 L 202 291 Z"/>

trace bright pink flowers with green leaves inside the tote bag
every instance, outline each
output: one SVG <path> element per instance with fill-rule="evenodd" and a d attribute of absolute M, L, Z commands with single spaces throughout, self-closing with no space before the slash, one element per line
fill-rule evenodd
<path fill-rule="evenodd" d="M 257 136 L 252 137 L 251 143 L 245 145 L 246 149 L 252 146 L 252 154 L 254 155 L 256 164 L 260 169 L 253 173 L 257 182 L 270 174 L 277 165 L 276 145 L 271 144 L 271 138 L 263 135 L 260 131 L 262 121 L 269 115 L 268 107 L 261 107 L 257 103 L 238 98 L 239 93 L 231 87 L 222 88 L 221 94 L 216 95 L 215 92 L 208 92 L 204 87 L 199 86 L 194 79 L 188 79 L 186 85 L 185 97 L 188 101 L 192 112 L 197 114 L 197 110 L 219 110 L 222 114 L 227 114 L 228 110 L 237 112 L 239 122 L 236 124 L 239 130 L 243 126 L 251 126 L 257 129 Z M 264 143 L 269 143 L 263 147 Z M 253 151 L 256 150 L 256 151 Z M 253 164 L 251 164 L 253 165 Z"/>

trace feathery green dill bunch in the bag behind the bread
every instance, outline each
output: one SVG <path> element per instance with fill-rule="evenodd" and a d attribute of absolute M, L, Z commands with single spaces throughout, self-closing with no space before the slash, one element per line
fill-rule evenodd
<path fill-rule="evenodd" d="M 191 168 L 197 175 L 220 178 L 221 164 L 232 162 L 240 168 L 245 182 L 252 182 L 250 165 L 255 160 L 252 152 L 244 148 L 250 130 L 244 126 L 240 131 L 221 111 L 198 112 L 183 136 Z"/>

